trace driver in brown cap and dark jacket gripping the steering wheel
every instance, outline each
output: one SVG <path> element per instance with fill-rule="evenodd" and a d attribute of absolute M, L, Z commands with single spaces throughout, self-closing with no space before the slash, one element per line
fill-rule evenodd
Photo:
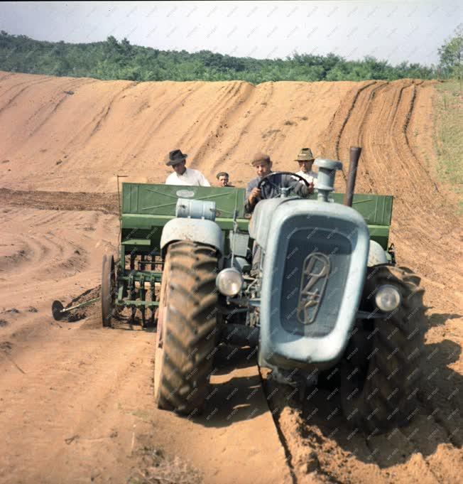
<path fill-rule="evenodd" d="M 256 168 L 256 178 L 253 178 L 246 187 L 246 203 L 244 208 L 246 212 L 251 213 L 258 201 L 262 198 L 274 198 L 279 194 L 279 187 L 291 188 L 296 195 L 307 197 L 313 192 L 313 186 L 307 188 L 305 183 L 299 183 L 290 175 L 276 175 L 270 180 L 270 183 L 258 187 L 258 183 L 264 176 L 272 173 L 272 161 L 270 156 L 257 153 L 251 160 L 251 165 Z"/>

